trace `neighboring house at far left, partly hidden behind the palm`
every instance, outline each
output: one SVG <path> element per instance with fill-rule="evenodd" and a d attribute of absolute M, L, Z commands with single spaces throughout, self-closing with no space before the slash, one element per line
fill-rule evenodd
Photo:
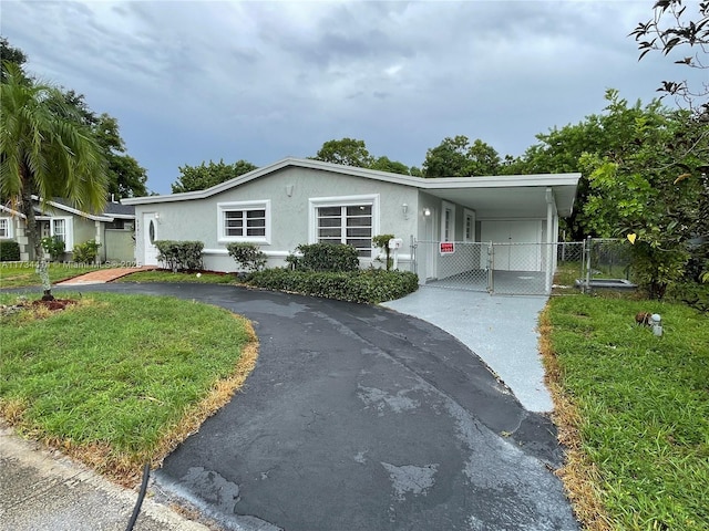
<path fill-rule="evenodd" d="M 135 207 L 107 202 L 103 212 L 94 215 L 73 208 L 66 200 L 53 198 L 41 208 L 34 200 L 34 216 L 40 238 L 59 236 L 64 240 L 65 260 L 71 260 L 74 244 L 95 240 L 101 243 L 97 259 L 102 262 L 129 262 L 135 256 Z M 0 238 L 20 244 L 20 260 L 33 260 L 34 247 L 27 235 L 23 214 L 0 205 Z"/>

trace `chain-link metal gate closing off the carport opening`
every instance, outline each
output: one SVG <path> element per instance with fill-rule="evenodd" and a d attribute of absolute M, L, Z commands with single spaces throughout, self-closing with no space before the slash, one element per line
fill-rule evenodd
<path fill-rule="evenodd" d="M 436 288 L 497 294 L 548 294 L 557 269 L 578 278 L 583 242 L 493 243 L 412 239 L 412 270 Z"/>

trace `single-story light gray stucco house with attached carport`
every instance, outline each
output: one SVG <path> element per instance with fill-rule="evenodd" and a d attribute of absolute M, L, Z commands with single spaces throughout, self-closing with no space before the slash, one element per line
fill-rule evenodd
<path fill-rule="evenodd" d="M 579 177 L 427 179 L 285 158 L 206 190 L 123 202 L 135 207 L 135 260 L 143 264 L 158 264 L 155 240 L 196 240 L 215 271 L 236 270 L 229 242 L 258 244 L 269 267 L 284 266 L 301 243 L 349 243 L 363 267 L 379 267 L 372 237 L 389 233 L 402 240 L 398 268 L 421 282 L 494 268 L 534 272 L 548 291 L 556 253 L 547 243 L 557 241 Z M 484 242 L 502 246 L 493 257 Z"/>

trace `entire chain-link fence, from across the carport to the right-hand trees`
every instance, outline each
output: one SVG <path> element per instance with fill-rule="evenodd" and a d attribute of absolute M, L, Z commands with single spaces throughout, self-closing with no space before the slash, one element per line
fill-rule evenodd
<path fill-rule="evenodd" d="M 427 285 L 436 288 L 511 295 L 577 293 L 588 279 L 628 279 L 627 243 L 602 239 L 554 243 L 412 240 L 412 270 Z"/>

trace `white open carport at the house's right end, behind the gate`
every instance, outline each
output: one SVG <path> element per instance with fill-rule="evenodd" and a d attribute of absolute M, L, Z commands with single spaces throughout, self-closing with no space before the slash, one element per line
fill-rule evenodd
<path fill-rule="evenodd" d="M 411 241 L 412 270 L 433 287 L 549 293 L 557 264 L 558 218 L 571 215 L 579 177 L 430 179 L 420 192 L 424 216 L 422 238 Z M 450 230 L 449 217 L 462 230 Z"/>

